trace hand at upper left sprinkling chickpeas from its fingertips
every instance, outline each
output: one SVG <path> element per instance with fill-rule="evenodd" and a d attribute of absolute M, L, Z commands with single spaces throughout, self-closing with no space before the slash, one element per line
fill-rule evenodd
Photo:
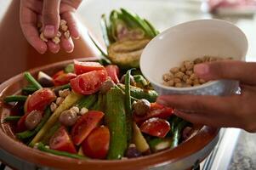
<path fill-rule="evenodd" d="M 81 2 L 82 0 L 21 0 L 20 26 L 27 41 L 40 54 L 44 54 L 47 49 L 52 53 L 58 53 L 60 45 L 66 52 L 71 53 L 74 48 L 71 38 L 61 37 L 60 44 L 55 44 L 52 41 L 43 42 L 37 31 L 37 23 L 41 21 L 44 36 L 52 38 L 57 35 L 61 17 L 67 21 L 71 37 L 77 39 L 79 31 L 75 12 Z"/>

